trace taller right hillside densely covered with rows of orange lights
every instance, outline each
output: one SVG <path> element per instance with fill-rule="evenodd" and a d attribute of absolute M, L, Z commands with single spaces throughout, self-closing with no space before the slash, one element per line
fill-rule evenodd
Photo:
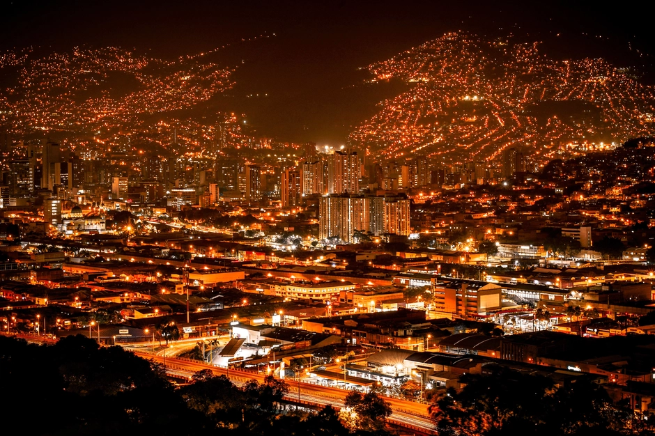
<path fill-rule="evenodd" d="M 508 146 L 547 153 L 560 142 L 654 132 L 653 87 L 603 59 L 553 61 L 538 47 L 447 33 L 369 65 L 377 81 L 413 86 L 380 102 L 350 143 L 387 159 L 420 153 L 456 163 L 490 159 Z"/>

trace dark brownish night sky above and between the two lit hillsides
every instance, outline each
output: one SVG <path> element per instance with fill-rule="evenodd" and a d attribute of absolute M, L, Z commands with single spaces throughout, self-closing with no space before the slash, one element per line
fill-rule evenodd
<path fill-rule="evenodd" d="M 626 3 L 570 3 L 4 1 L 0 49 L 118 45 L 174 57 L 231 43 L 223 56 L 239 65 L 238 84 L 220 109 L 247 114 L 262 135 L 339 144 L 351 125 L 375 112 L 376 102 L 402 89 L 364 86 L 367 73 L 358 68 L 447 31 L 513 33 L 544 41 L 551 56 L 603 56 L 651 70 L 647 11 Z M 269 38 L 241 42 L 262 34 Z M 268 96 L 246 97 L 257 93 Z"/>

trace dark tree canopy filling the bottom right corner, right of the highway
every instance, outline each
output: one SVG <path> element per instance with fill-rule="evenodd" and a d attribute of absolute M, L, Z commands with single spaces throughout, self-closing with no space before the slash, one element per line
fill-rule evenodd
<path fill-rule="evenodd" d="M 440 435 L 652 435 L 652 418 L 612 403 L 586 379 L 557 388 L 550 378 L 499 368 L 466 374 L 465 387 L 449 389 L 431 414 Z"/>

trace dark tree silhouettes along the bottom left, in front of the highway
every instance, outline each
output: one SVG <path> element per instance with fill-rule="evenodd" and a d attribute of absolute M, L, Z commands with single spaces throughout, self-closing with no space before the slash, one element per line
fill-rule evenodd
<path fill-rule="evenodd" d="M 84 336 L 48 346 L 0 336 L 0 373 L 4 425 L 29 435 L 385 433 L 384 418 L 373 418 L 367 428 L 346 428 L 330 406 L 280 414 L 288 387 L 273 377 L 236 387 L 201 371 L 176 389 L 157 364 L 120 347 L 100 348 Z"/>

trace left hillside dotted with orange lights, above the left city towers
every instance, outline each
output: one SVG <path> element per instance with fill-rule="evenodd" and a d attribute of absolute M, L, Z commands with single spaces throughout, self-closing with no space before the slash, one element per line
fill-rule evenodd
<path fill-rule="evenodd" d="M 222 58 L 228 46 L 177 59 L 121 47 L 0 54 L 0 131 L 86 151 L 241 143 L 241 115 L 216 105 L 236 83 L 236 63 Z"/>

